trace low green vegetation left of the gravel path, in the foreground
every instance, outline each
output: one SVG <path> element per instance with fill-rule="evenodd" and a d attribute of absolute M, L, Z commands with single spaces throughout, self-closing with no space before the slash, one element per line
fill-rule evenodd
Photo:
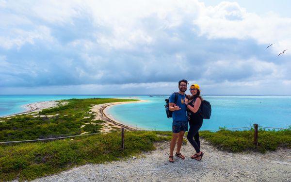
<path fill-rule="evenodd" d="M 121 133 L 81 136 L 74 140 L 22 143 L 0 146 L 0 181 L 33 180 L 86 163 L 104 163 L 153 150 L 154 142 L 169 140 L 155 132 L 125 132 L 125 149 L 120 150 Z"/>

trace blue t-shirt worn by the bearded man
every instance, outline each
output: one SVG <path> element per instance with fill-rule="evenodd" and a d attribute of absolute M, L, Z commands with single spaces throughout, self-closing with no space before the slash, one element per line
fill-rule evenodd
<path fill-rule="evenodd" d="M 175 93 L 170 96 L 169 103 L 175 103 Z M 185 104 L 185 95 L 181 95 L 178 93 L 178 99 L 176 105 L 181 108 L 178 111 L 173 112 L 173 121 L 188 121 L 187 119 L 187 106 Z"/>

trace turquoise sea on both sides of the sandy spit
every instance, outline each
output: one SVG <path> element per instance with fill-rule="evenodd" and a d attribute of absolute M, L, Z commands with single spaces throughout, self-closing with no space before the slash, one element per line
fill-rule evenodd
<path fill-rule="evenodd" d="M 38 101 L 81 98 L 137 98 L 147 102 L 121 104 L 108 112 L 124 124 L 149 130 L 171 130 L 172 120 L 164 111 L 168 95 L 0 95 L 0 116 L 25 111 L 25 104 Z M 211 118 L 202 129 L 261 126 L 286 128 L 291 125 L 291 96 L 204 96 L 212 105 Z"/>

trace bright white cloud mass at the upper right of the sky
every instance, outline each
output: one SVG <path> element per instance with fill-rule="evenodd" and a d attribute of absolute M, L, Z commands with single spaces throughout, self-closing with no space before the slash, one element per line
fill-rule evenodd
<path fill-rule="evenodd" d="M 194 24 L 200 28 L 200 35 L 210 39 L 253 38 L 259 44 L 275 43 L 274 53 L 291 47 L 291 18 L 274 13 L 258 16 L 248 13 L 236 2 L 221 2 L 215 7 L 203 8 Z"/>

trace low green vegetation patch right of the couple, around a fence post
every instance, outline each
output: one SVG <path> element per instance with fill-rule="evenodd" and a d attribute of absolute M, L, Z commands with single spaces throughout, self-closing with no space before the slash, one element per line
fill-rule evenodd
<path fill-rule="evenodd" d="M 278 147 L 291 148 L 291 127 L 286 130 L 263 130 L 258 132 L 259 146 L 254 145 L 254 129 L 249 131 L 228 131 L 199 132 L 199 135 L 219 149 L 231 152 L 253 150 L 266 152 L 275 150 Z"/>

